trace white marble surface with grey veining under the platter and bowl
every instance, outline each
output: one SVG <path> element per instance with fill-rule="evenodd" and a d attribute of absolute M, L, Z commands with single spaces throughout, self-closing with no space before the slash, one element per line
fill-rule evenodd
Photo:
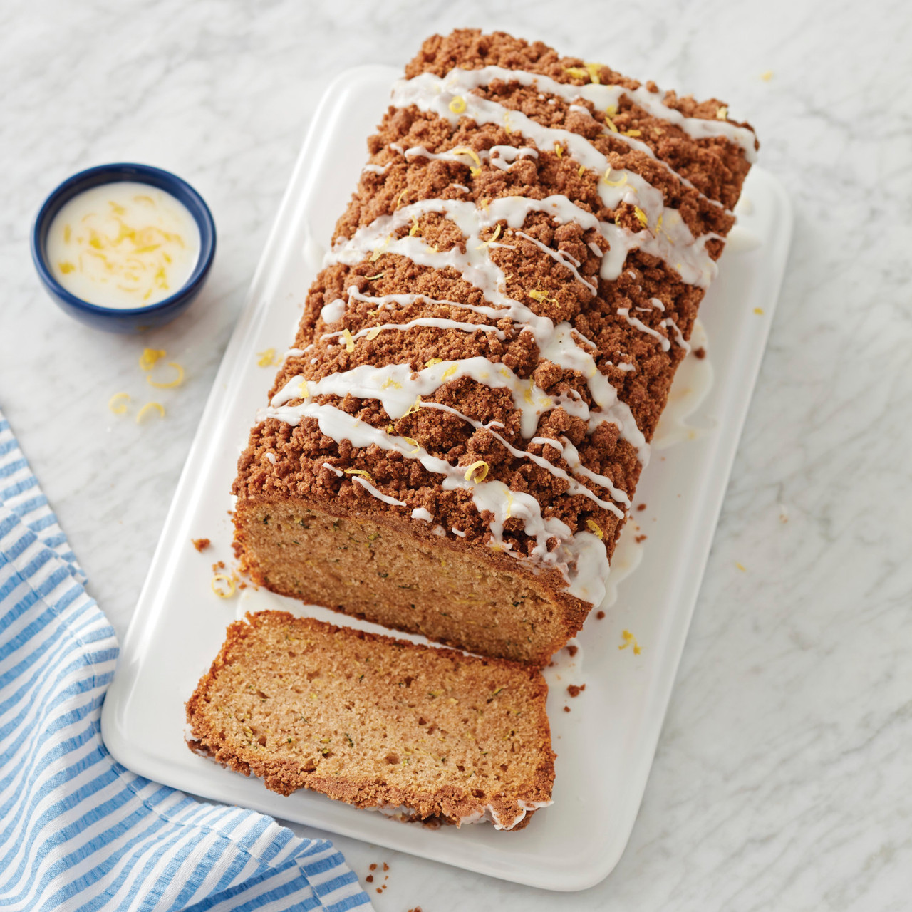
<path fill-rule="evenodd" d="M 0 404 L 122 636 L 308 118 L 337 68 L 401 65 L 433 31 L 506 27 L 727 99 L 793 192 L 793 254 L 626 855 L 599 886 L 555 895 L 337 843 L 362 877 L 389 863 L 389 888 L 371 885 L 380 912 L 907 908 L 912 8 L 666 0 L 577 2 L 568 15 L 529 0 L 507 16 L 495 6 L 0 6 Z M 64 316 L 27 250 L 44 195 L 117 160 L 192 181 L 220 232 L 201 300 L 143 341 Z M 188 381 L 158 397 L 166 420 L 138 427 L 107 402 L 150 393 L 143 345 L 166 348 Z"/>

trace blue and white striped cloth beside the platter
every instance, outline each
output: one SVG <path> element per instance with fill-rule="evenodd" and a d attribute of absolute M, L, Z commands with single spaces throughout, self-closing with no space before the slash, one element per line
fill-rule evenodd
<path fill-rule="evenodd" d="M 369 909 L 331 843 L 111 759 L 117 639 L 84 582 L 0 411 L 0 908 Z"/>

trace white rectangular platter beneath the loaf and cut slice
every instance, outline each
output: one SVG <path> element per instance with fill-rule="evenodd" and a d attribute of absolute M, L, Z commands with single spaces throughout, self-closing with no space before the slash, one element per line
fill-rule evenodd
<path fill-rule="evenodd" d="M 220 599 L 212 591 L 211 565 L 220 559 L 230 565 L 235 464 L 275 369 L 259 367 L 257 353 L 291 344 L 322 249 L 356 186 L 365 140 L 397 75 L 389 67 L 349 70 L 326 90 L 316 112 L 174 495 L 105 702 L 102 731 L 119 762 L 188 792 L 529 886 L 584 889 L 617 864 L 637 817 L 772 322 L 792 217 L 782 187 L 761 169 L 754 168 L 745 185 L 742 243 L 732 241 L 726 250 L 702 306 L 715 374 L 693 416 L 702 430 L 665 460 L 653 454 L 637 491 L 637 503 L 647 508 L 634 513 L 648 534 L 641 565 L 618 586 L 606 617 L 590 615 L 575 658 L 562 653 L 548 672 L 557 751 L 553 806 L 516 833 L 489 825 L 428 830 L 316 793 L 268 792 L 184 742 L 184 701 L 217 653 L 225 627 L 245 611 L 282 607 L 379 629 L 264 590 Z M 203 554 L 191 544 L 199 537 L 212 540 Z M 637 637 L 636 655 L 618 648 L 625 629 Z M 586 691 L 570 700 L 568 684 L 586 684 Z M 563 711 L 565 705 L 572 711 Z"/>

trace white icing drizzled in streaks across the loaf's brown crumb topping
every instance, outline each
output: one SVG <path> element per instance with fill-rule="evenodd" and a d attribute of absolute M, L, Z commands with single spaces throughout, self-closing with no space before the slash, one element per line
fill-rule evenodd
<path fill-rule="evenodd" d="M 368 295 L 361 295 L 355 287 L 348 290 L 348 296 L 350 299 L 376 302 L 377 310 L 394 305 L 409 307 L 416 302 L 423 301 L 472 310 L 483 316 L 489 316 L 493 320 L 510 319 L 521 332 L 528 331 L 533 334 L 543 360 L 553 361 L 559 367 L 576 371 L 586 378 L 595 405 L 590 409 L 574 390 L 560 396 L 547 396 L 543 389 L 534 384 L 532 379 L 518 378 L 503 364 L 494 363 L 488 358 L 475 357 L 462 358 L 457 361 L 440 361 L 438 364 L 430 365 L 417 372 L 412 372 L 409 364 L 394 364 L 384 367 L 360 365 L 358 368 L 332 374 L 309 384 L 303 378 L 293 378 L 285 385 L 285 389 L 275 395 L 270 408 L 265 410 L 265 414 L 293 425 L 302 418 L 314 418 L 319 424 L 320 430 L 334 440 L 350 440 L 353 446 L 359 448 L 375 445 L 382 450 L 399 451 L 406 458 L 417 459 L 429 472 L 443 475 L 441 482 L 443 490 L 463 488 L 472 492 L 472 502 L 476 509 L 484 515 L 491 516 L 489 544 L 492 548 L 512 553 L 513 557 L 528 563 L 536 572 L 558 570 L 567 581 L 567 592 L 570 595 L 595 604 L 600 602 L 605 595 L 608 570 L 605 545 L 596 535 L 588 532 L 572 534 L 570 528 L 555 517 L 545 518 L 542 515 L 541 505 L 533 496 L 524 492 L 511 491 L 503 482 L 472 482 L 466 479 L 464 466 L 452 465 L 448 461 L 431 456 L 414 440 L 373 428 L 366 422 L 353 419 L 341 409 L 330 405 L 318 405 L 312 401 L 312 397 L 326 393 L 341 397 L 350 393 L 362 399 L 378 399 L 393 420 L 402 417 L 416 406 L 449 411 L 476 429 L 488 430 L 514 457 L 533 461 L 547 472 L 561 478 L 567 484 L 568 494 L 582 494 L 603 509 L 610 510 L 619 517 L 624 516 L 624 511 L 618 509 L 615 503 L 597 497 L 595 492 L 592 492 L 585 484 L 578 482 L 570 473 L 555 466 L 543 456 L 513 447 L 501 434 L 493 430 L 494 426 L 503 428 L 500 422 L 483 425 L 456 409 L 440 403 L 421 402 L 419 397 L 430 395 L 450 379 L 462 377 L 472 378 L 492 389 L 505 387 L 509 390 L 513 405 L 519 412 L 524 438 L 553 447 L 565 459 L 572 472 L 605 488 L 617 503 L 628 507 L 627 494 L 618 489 L 611 479 L 586 469 L 570 440 L 562 438 L 560 441 L 555 441 L 549 438 L 533 437 L 538 420 L 544 411 L 561 406 L 570 414 L 586 420 L 590 432 L 596 430 L 597 426 L 605 420 L 616 423 L 620 428 L 621 436 L 637 448 L 640 460 L 645 464 L 648 458 L 648 446 L 633 420 L 630 409 L 617 399 L 617 390 L 598 370 L 593 355 L 586 350 L 588 346 L 593 348 L 595 346 L 575 332 L 569 323 L 555 326 L 549 318 L 537 316 L 528 306 L 509 298 L 505 294 L 505 276 L 492 262 L 490 252 L 492 248 L 510 245 L 498 244 L 493 240 L 482 242 L 481 233 L 502 221 L 507 223 L 513 233 L 535 244 L 556 263 L 564 266 L 574 276 L 575 281 L 584 285 L 593 295 L 597 294 L 597 286 L 580 274 L 580 261 L 565 251 L 553 250 L 521 230 L 525 218 L 530 212 L 546 212 L 556 223 L 575 222 L 586 231 L 595 229 L 601 233 L 607 242 L 607 251 L 603 252 L 599 244 L 591 242 L 589 248 L 594 254 L 601 257 L 599 275 L 606 279 L 617 278 L 624 268 L 627 254 L 638 248 L 648 254 L 658 256 L 672 265 L 685 282 L 705 287 L 709 285 L 716 272 L 715 264 L 706 251 L 706 243 L 710 238 L 718 235 L 707 233 L 695 239 L 680 213 L 665 206 L 661 192 L 636 172 L 612 171 L 606 156 L 579 134 L 569 130 L 544 127 L 520 112 L 505 109 L 502 105 L 470 94 L 472 88 L 486 85 L 494 78 L 519 81 L 526 85 L 537 84 L 544 91 L 570 101 L 586 98 L 596 106 L 605 108 L 610 104 L 617 104 L 617 99 L 626 94 L 650 113 L 657 113 L 658 105 L 663 109 L 658 116 L 679 124 L 692 136 L 726 135 L 732 141 L 741 143 L 749 156 L 752 153 L 753 137 L 750 131 L 737 128 L 726 121 L 684 118 L 679 112 L 668 109 L 657 98 L 653 98 L 652 93 L 648 93 L 645 89 L 631 91 L 619 86 L 568 86 L 556 83 L 549 78 L 500 67 L 484 67 L 482 70 L 473 71 L 455 69 L 443 79 L 426 73 L 418 78 L 400 81 L 393 92 L 393 102 L 400 107 L 415 104 L 420 109 L 435 112 L 453 124 L 458 122 L 462 114 L 479 123 L 503 123 L 508 130 L 522 134 L 540 149 L 559 144 L 564 150 L 564 154 L 574 161 L 578 161 L 585 168 L 597 171 L 599 174 L 604 173 L 604 178 L 598 183 L 598 192 L 606 209 L 615 210 L 622 202 L 636 206 L 637 217 L 641 223 L 645 223 L 644 227 L 648 230 L 631 232 L 615 223 L 601 222 L 591 212 L 587 212 L 565 196 L 558 194 L 542 201 L 523 197 L 506 197 L 485 204 L 483 209 L 476 207 L 473 202 L 424 200 L 401 207 L 396 212 L 381 216 L 373 223 L 359 228 L 351 238 L 335 245 L 334 249 L 326 255 L 325 264 L 358 264 L 365 258 L 365 254 L 389 253 L 406 256 L 418 265 L 428 265 L 436 269 L 447 267 L 456 269 L 465 281 L 482 291 L 482 295 L 487 302 L 490 302 L 490 306 L 487 304 L 470 306 L 451 301 L 435 301 L 421 295 L 385 295 L 371 298 Z M 453 114 L 449 107 L 457 91 L 465 92 L 468 95 L 467 98 L 463 97 L 465 104 L 460 115 Z M 640 98 L 640 96 L 643 97 Z M 585 111 L 586 115 L 589 114 L 588 109 L 578 104 L 571 105 L 571 109 L 577 113 Z M 738 130 L 741 132 L 737 132 Z M 748 140 L 748 136 L 750 140 Z M 633 137 L 623 135 L 621 137 L 632 147 L 641 149 L 655 158 L 645 143 L 638 142 Z M 389 148 L 399 152 L 407 159 L 423 156 L 429 160 L 446 159 L 468 163 L 466 161 L 468 158 L 472 160 L 473 165 L 477 165 L 479 161 L 488 161 L 492 167 L 504 171 L 519 159 L 538 155 L 538 152 L 530 146 L 514 147 L 512 145 L 495 146 L 490 150 L 480 150 L 473 154 L 460 150 L 459 147 L 436 153 L 430 152 L 423 146 L 403 150 L 396 143 L 390 144 Z M 368 165 L 365 171 L 384 173 L 388 168 L 389 164 Z M 473 171 L 473 173 L 476 172 Z M 613 178 L 614 180 L 612 180 Z M 689 181 L 685 181 L 683 178 L 681 180 L 689 184 Z M 469 192 L 469 188 L 462 184 L 451 184 L 451 186 L 462 192 Z M 692 185 L 689 184 L 689 186 Z M 445 217 L 456 224 L 465 238 L 464 251 L 458 246 L 448 251 L 439 251 L 431 248 L 420 236 L 413 234 L 401 238 L 393 236 L 400 227 L 410 222 L 416 222 L 420 215 L 427 212 L 442 212 Z M 374 258 L 376 259 L 376 256 Z M 654 306 L 658 306 L 658 309 L 664 310 L 664 305 L 658 299 L 654 299 L 652 303 Z M 344 316 L 345 306 L 345 302 L 338 298 L 324 306 L 321 317 L 326 324 L 336 323 Z M 663 349 L 668 351 L 671 344 L 669 338 L 646 326 L 636 316 L 631 316 L 629 308 L 620 308 L 618 314 L 624 316 L 631 326 L 636 326 L 637 329 L 657 337 Z M 663 319 L 660 325 L 674 333 L 679 345 L 687 345 L 670 317 Z M 506 334 L 498 326 L 441 317 L 418 317 L 409 322 L 368 326 L 358 330 L 354 336 L 344 330 L 330 332 L 324 338 L 328 341 L 345 336 L 346 343 L 349 344 L 361 337 L 376 337 L 378 332 L 406 331 L 416 326 L 456 329 L 466 333 L 478 330 L 492 332 L 502 341 L 506 338 Z M 633 365 L 622 364 L 619 369 L 634 368 Z M 288 405 L 287 403 L 291 399 L 302 399 L 302 401 L 296 405 Z M 324 463 L 324 465 L 337 475 L 342 474 L 334 466 L 330 466 L 328 463 Z M 383 503 L 407 506 L 406 503 L 378 491 L 373 484 L 361 476 L 353 475 L 352 481 L 361 485 Z M 421 507 L 412 510 L 411 516 L 416 520 L 433 522 L 430 511 Z M 508 519 L 518 519 L 523 523 L 523 533 L 530 539 L 531 545 L 528 556 L 517 554 L 514 551 L 513 543 L 503 538 L 504 524 Z M 440 525 L 435 525 L 431 531 L 434 534 L 446 534 Z M 454 528 L 451 531 L 453 534 L 465 537 L 465 533 L 460 530 Z M 554 539 L 557 541 L 556 546 L 553 544 Z M 534 544 L 532 544 L 533 542 Z M 552 543 L 550 550 L 549 542 Z M 544 806 L 544 803 L 528 805 L 528 807 L 523 805 L 523 814 L 515 823 L 522 820 L 526 810 L 531 810 L 534 806 Z M 399 809 L 396 811 L 398 812 Z M 480 812 L 478 817 L 481 819 L 485 815 L 490 817 L 495 826 L 502 828 L 490 806 L 484 812 Z"/>

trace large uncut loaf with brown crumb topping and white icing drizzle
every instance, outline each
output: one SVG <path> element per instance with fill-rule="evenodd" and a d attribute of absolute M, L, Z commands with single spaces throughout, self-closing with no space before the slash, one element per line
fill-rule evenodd
<path fill-rule="evenodd" d="M 544 665 L 604 596 L 757 145 L 541 43 L 425 42 L 239 463 L 254 581 Z"/>

